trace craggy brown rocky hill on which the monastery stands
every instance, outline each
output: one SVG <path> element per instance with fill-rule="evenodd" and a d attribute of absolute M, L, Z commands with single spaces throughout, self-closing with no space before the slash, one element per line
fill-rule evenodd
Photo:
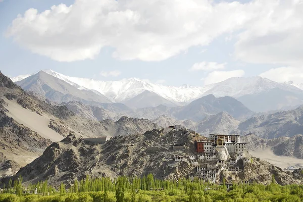
<path fill-rule="evenodd" d="M 173 148 L 184 144 L 182 149 Z M 47 179 L 54 185 L 72 183 L 86 175 L 115 178 L 152 173 L 161 179 L 178 179 L 187 177 L 196 168 L 189 161 L 176 162 L 174 156 L 195 154 L 191 131 L 186 129 L 170 132 L 154 129 L 144 134 L 116 136 L 104 144 L 90 143 L 72 134 L 48 146 L 42 156 L 21 168 L 15 177 L 24 176 L 25 183 Z M 255 158 L 244 166 L 239 179 L 268 184 L 273 174 L 279 184 L 302 183 L 296 171 L 284 172 Z"/>

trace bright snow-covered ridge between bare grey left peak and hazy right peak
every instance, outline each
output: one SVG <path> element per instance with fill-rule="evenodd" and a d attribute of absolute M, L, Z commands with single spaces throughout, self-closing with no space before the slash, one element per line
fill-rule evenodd
<path fill-rule="evenodd" d="M 155 92 L 172 102 L 186 103 L 189 102 L 189 100 L 202 96 L 203 93 L 209 89 L 208 87 L 193 87 L 189 85 L 183 85 L 180 87 L 164 86 L 137 78 L 122 79 L 120 81 L 99 81 L 88 78 L 66 76 L 53 70 L 43 71 L 64 80 L 71 85 L 77 84 L 91 90 L 96 90 L 116 103 L 129 100 L 145 90 Z M 15 82 L 16 81 L 18 80 L 15 79 Z"/>

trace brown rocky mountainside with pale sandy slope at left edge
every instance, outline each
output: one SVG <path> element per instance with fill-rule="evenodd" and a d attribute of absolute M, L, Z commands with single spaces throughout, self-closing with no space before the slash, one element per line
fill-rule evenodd
<path fill-rule="evenodd" d="M 40 156 L 49 144 L 62 140 L 71 131 L 87 138 L 143 133 L 154 128 L 158 126 L 146 119 L 120 117 L 116 122 L 86 119 L 64 105 L 51 105 L 27 93 L 0 72 L 1 176 L 16 173 Z"/>

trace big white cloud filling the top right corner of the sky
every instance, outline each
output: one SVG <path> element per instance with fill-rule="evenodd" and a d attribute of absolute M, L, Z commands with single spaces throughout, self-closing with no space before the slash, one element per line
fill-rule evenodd
<path fill-rule="evenodd" d="M 235 44 L 236 58 L 249 63 L 303 65 L 303 1 L 255 1 L 258 16 Z"/>

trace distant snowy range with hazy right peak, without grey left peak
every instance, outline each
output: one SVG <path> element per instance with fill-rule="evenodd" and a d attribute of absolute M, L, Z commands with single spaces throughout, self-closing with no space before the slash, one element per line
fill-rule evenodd
<path fill-rule="evenodd" d="M 278 83 L 262 77 L 234 77 L 206 86 L 184 84 L 176 87 L 155 84 L 137 78 L 100 81 L 66 76 L 53 70 L 43 71 L 78 89 L 90 89 L 95 93 L 105 95 L 114 103 L 127 103 L 128 100 L 148 91 L 155 93 L 154 97 L 158 97 L 158 102 L 163 97 L 163 100 L 168 100 L 178 105 L 186 105 L 199 97 L 209 94 L 214 94 L 216 97 L 231 96 L 256 112 L 280 110 L 285 107 L 289 108 L 303 104 L 303 90 L 299 89 L 299 86 L 295 86 L 293 83 Z M 13 79 L 16 82 L 26 76 L 22 75 Z M 149 101 L 152 102 L 153 100 Z"/>

